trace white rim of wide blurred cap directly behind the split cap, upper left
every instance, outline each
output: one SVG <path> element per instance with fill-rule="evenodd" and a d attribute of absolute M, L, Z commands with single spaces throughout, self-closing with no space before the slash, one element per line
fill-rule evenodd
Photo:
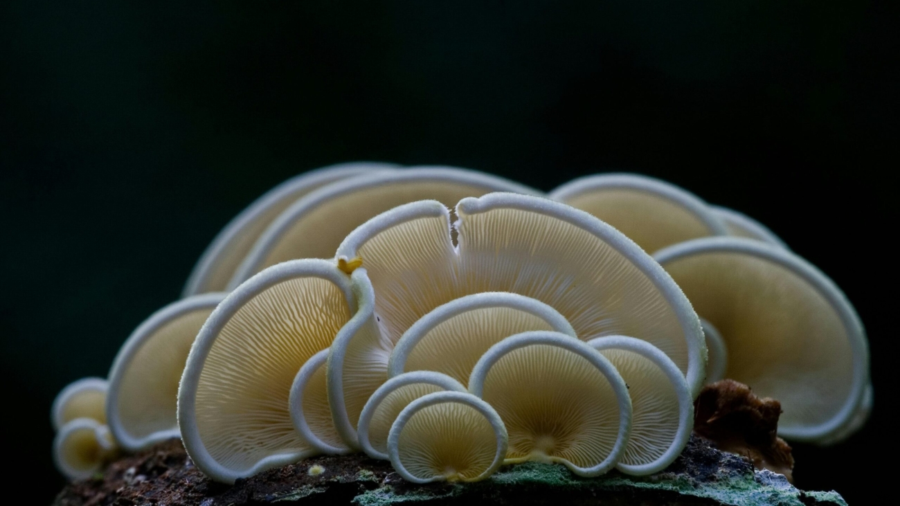
<path fill-rule="evenodd" d="M 348 198 L 376 187 L 388 187 L 401 184 L 427 184 L 438 183 L 444 185 L 473 186 L 488 192 L 515 192 L 519 194 L 540 194 L 534 188 L 519 185 L 499 176 L 492 176 L 482 172 L 456 167 L 409 167 L 397 171 L 382 171 L 365 176 L 356 176 L 345 181 L 339 181 L 303 196 L 297 202 L 284 210 L 275 221 L 269 225 L 265 232 L 257 239 L 253 249 L 244 258 L 238 270 L 229 282 L 229 288 L 233 288 L 257 271 L 266 267 L 266 258 L 275 250 L 284 239 L 285 234 L 293 226 L 316 212 L 322 205 L 339 198 Z M 402 195 L 406 198 L 406 195 Z M 421 195 L 421 197 L 430 195 Z M 458 196 L 456 197 L 458 198 Z M 406 200 L 406 203 L 409 200 Z M 382 208 L 381 212 L 387 211 Z M 370 218 L 372 215 L 366 216 Z M 358 222 L 357 222 L 358 224 Z M 347 230 L 349 231 L 349 230 Z"/>

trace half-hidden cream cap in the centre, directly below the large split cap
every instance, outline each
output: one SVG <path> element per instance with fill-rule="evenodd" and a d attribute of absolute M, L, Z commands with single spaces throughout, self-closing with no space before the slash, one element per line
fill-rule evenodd
<path fill-rule="evenodd" d="M 437 371 L 469 383 L 472 368 L 491 346 L 527 330 L 555 330 L 577 338 L 562 314 L 536 299 L 509 292 L 466 295 L 437 306 L 403 333 L 388 375 Z"/>

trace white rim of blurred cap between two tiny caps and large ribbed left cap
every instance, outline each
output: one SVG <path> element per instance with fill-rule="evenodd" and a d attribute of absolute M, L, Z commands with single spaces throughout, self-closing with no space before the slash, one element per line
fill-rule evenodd
<path fill-rule="evenodd" d="M 128 451 L 138 451 L 145 447 L 154 445 L 160 441 L 169 438 L 181 438 L 181 431 L 178 430 L 178 423 L 175 419 L 175 397 L 172 398 L 172 426 L 168 429 L 161 429 L 149 433 L 144 436 L 135 436 L 130 432 L 130 428 L 121 420 L 120 412 L 120 391 L 121 384 L 125 376 L 129 373 L 130 366 L 133 364 L 135 356 L 138 355 L 141 347 L 148 344 L 157 334 L 157 330 L 166 326 L 167 323 L 175 321 L 179 317 L 200 310 L 209 310 L 210 312 L 225 298 L 227 294 L 213 293 L 193 295 L 176 303 L 171 303 L 166 307 L 154 312 L 150 317 L 143 321 L 137 329 L 131 332 L 125 343 L 119 349 L 115 360 L 112 362 L 112 368 L 109 374 L 109 391 L 106 395 L 106 423 L 112 431 L 112 436 L 119 445 Z M 193 343 L 193 338 L 191 342 Z M 160 357 L 175 359 L 178 357 Z M 181 378 L 184 364 L 169 364 L 169 368 L 177 369 L 178 373 L 173 381 L 177 384 Z M 145 402 L 146 399 L 141 400 Z M 153 417 L 157 418 L 157 417 Z"/>

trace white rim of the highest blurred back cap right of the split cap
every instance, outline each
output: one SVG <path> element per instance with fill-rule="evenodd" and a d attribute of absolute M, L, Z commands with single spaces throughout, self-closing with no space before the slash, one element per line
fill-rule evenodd
<path fill-rule="evenodd" d="M 677 203 L 694 214 L 699 221 L 707 225 L 712 235 L 728 234 L 728 229 L 722 219 L 716 216 L 710 210 L 709 205 L 700 200 L 697 195 L 655 177 L 622 173 L 583 176 L 558 186 L 549 194 L 549 197 L 555 201 L 566 202 L 580 194 L 608 189 L 635 190 L 660 196 Z"/>

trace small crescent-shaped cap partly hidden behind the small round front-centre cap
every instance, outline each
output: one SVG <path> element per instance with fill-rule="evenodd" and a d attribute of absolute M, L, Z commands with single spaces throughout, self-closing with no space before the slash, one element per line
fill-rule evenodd
<path fill-rule="evenodd" d="M 443 391 L 467 392 L 454 378 L 434 371 L 392 377 L 365 402 L 359 415 L 359 446 L 368 456 L 387 460 L 388 434 L 403 408 L 423 395 Z"/>

